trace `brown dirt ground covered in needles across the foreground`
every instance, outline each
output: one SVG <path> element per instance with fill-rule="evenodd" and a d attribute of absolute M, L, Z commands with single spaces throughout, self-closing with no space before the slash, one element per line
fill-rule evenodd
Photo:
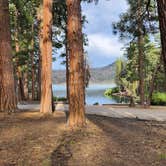
<path fill-rule="evenodd" d="M 0 166 L 166 166 L 166 122 L 91 115 L 72 131 L 61 112 L 0 113 Z"/>

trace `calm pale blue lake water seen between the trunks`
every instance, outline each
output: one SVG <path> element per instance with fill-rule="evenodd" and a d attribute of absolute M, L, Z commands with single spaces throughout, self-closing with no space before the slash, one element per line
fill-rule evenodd
<path fill-rule="evenodd" d="M 104 96 L 106 89 L 114 87 L 115 84 L 90 84 L 86 89 L 86 104 L 93 105 L 99 104 L 116 104 L 121 103 L 120 100 L 114 98 L 107 98 Z M 65 85 L 53 85 L 54 96 L 66 97 L 66 86 Z"/>

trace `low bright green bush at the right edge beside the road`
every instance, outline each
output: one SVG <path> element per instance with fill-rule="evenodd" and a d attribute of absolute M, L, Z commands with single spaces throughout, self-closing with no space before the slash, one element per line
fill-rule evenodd
<path fill-rule="evenodd" d="M 155 92 L 152 95 L 152 105 L 166 105 L 166 93 Z"/>

